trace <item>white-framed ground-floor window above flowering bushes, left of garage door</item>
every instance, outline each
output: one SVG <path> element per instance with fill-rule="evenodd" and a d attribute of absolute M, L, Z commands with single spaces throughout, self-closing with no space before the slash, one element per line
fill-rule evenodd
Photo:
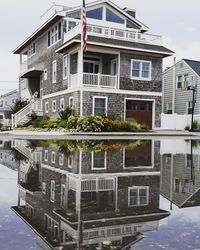
<path fill-rule="evenodd" d="M 93 97 L 93 115 L 107 114 L 107 97 Z"/>

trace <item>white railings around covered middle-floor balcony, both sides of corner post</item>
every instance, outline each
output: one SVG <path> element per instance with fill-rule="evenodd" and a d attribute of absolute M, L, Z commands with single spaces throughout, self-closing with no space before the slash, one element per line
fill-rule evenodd
<path fill-rule="evenodd" d="M 80 87 L 79 74 L 69 75 L 69 88 Z M 83 73 L 83 86 L 96 88 L 117 89 L 118 77 L 117 75 L 104 75 L 94 73 Z"/>

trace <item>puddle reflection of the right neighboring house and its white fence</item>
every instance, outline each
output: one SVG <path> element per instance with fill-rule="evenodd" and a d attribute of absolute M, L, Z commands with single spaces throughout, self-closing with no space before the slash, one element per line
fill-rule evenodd
<path fill-rule="evenodd" d="M 198 141 L 161 141 L 161 193 L 179 208 L 200 205 Z"/>

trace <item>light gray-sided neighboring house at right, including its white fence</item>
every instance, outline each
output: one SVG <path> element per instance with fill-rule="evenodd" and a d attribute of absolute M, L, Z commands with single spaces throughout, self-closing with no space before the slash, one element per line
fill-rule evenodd
<path fill-rule="evenodd" d="M 182 59 L 163 73 L 162 129 L 190 126 L 193 91 L 188 86 L 197 88 L 194 120 L 200 121 L 200 61 Z"/>

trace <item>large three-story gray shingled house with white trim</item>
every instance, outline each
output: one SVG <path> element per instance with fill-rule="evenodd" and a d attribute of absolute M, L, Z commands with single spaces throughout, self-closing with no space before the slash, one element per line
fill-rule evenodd
<path fill-rule="evenodd" d="M 52 15 L 51 15 L 52 14 Z M 58 117 L 71 106 L 80 115 L 115 114 L 160 127 L 162 59 L 173 52 L 136 18 L 108 0 L 86 5 L 87 53 L 82 55 L 81 6 L 54 5 L 41 26 L 15 50 L 23 98 L 35 93 L 14 126 L 35 111 Z"/>

